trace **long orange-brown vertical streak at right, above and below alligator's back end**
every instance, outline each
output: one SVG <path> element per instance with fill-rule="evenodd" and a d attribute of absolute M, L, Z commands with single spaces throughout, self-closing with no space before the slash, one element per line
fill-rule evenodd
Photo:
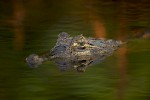
<path fill-rule="evenodd" d="M 125 40 L 127 35 L 126 26 L 128 24 L 128 19 L 126 19 L 126 3 L 120 2 L 118 6 L 118 39 Z M 125 88 L 127 84 L 127 46 L 123 45 L 117 52 L 118 62 L 118 76 L 119 80 L 117 82 L 117 98 L 118 100 L 124 100 Z"/>

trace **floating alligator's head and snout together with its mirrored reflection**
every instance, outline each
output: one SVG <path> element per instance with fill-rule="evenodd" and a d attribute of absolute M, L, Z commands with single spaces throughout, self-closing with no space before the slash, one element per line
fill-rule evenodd
<path fill-rule="evenodd" d="M 112 39 L 87 38 L 82 34 L 71 37 L 62 32 L 51 50 L 42 55 L 31 54 L 26 62 L 30 67 L 36 68 L 46 61 L 54 61 L 62 71 L 74 68 L 78 72 L 84 72 L 88 66 L 103 61 L 125 43 Z"/>

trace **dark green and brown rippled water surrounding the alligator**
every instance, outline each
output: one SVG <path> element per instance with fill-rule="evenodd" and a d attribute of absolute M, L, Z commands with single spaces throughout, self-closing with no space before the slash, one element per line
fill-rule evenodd
<path fill-rule="evenodd" d="M 122 40 L 149 32 L 148 0 L 1 0 L 0 11 L 0 100 L 149 100 L 149 39 L 131 40 L 85 73 L 25 63 L 62 31 Z"/>

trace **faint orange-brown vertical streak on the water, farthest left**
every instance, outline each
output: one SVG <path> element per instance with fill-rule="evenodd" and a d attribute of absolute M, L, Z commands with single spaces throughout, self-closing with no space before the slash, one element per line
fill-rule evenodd
<path fill-rule="evenodd" d="M 24 46 L 24 28 L 23 21 L 25 17 L 25 11 L 23 4 L 19 0 L 13 0 L 13 31 L 14 31 L 14 48 L 15 50 L 21 50 Z"/>

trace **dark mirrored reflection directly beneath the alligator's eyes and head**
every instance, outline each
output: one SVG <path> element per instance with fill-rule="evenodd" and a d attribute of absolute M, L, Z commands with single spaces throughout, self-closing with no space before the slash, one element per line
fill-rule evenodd
<path fill-rule="evenodd" d="M 88 66 L 92 66 L 102 62 L 106 57 L 96 57 L 93 59 L 54 59 L 54 62 L 59 66 L 61 71 L 66 71 L 68 69 L 75 69 L 77 72 L 85 72 Z"/>

